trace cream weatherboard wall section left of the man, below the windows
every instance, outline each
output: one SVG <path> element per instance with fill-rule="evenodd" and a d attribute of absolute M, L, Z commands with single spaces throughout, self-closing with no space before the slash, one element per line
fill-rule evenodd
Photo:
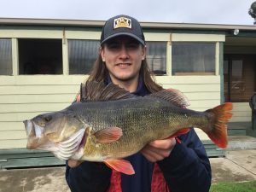
<path fill-rule="evenodd" d="M 0 148 L 26 148 L 25 119 L 66 108 L 84 76 L 0 76 Z"/>

